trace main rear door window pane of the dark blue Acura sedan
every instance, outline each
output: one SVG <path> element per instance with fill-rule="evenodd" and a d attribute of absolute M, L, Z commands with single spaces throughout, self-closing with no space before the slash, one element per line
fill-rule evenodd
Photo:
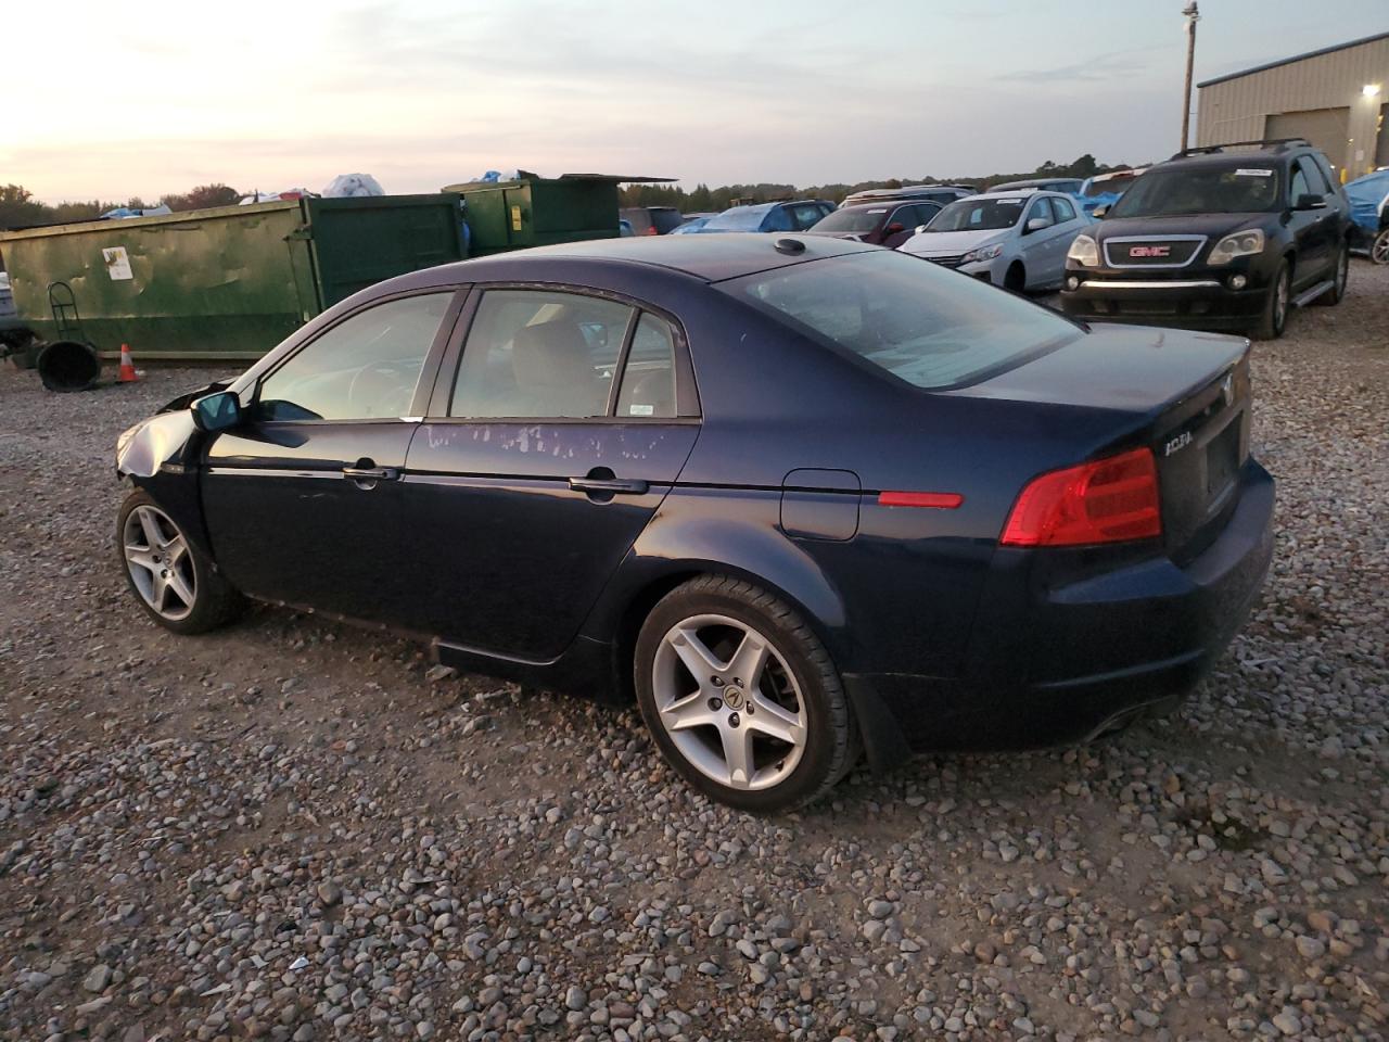
<path fill-rule="evenodd" d="M 608 392 L 635 308 L 535 289 L 488 290 L 463 346 L 450 415 L 607 415 Z"/>

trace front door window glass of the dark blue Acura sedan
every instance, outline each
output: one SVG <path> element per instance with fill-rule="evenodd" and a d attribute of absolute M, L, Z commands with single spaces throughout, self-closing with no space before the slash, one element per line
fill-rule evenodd
<path fill-rule="evenodd" d="M 451 299 L 450 290 L 388 300 L 339 322 L 261 381 L 257 418 L 407 415 Z"/>

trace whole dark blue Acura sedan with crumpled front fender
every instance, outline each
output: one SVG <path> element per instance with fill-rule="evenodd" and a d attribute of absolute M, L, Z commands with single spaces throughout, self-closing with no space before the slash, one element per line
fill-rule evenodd
<path fill-rule="evenodd" d="M 1249 345 L 1089 329 L 822 236 L 574 243 L 383 282 L 121 435 L 139 603 L 386 624 L 636 697 L 725 803 L 1175 702 L 1271 554 Z"/>

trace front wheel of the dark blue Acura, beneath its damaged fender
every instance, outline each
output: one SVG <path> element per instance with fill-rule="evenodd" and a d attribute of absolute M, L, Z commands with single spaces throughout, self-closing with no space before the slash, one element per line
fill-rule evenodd
<path fill-rule="evenodd" d="M 143 489 L 121 504 L 115 546 L 136 602 L 165 629 L 201 634 L 244 607 L 242 595 Z"/>

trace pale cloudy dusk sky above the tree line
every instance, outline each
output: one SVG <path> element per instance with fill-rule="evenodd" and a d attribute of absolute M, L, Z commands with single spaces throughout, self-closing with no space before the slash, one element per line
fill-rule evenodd
<path fill-rule="evenodd" d="M 433 192 L 488 169 L 693 188 L 1028 171 L 1179 138 L 1185 0 L 4 4 L 0 183 Z M 1196 78 L 1389 31 L 1389 0 L 1201 0 Z"/>

